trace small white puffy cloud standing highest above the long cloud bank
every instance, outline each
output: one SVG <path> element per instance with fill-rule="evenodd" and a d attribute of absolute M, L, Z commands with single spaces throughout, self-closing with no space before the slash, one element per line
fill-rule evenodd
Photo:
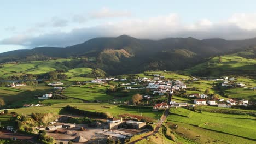
<path fill-rule="evenodd" d="M 101 18 L 111 18 L 111 17 L 131 17 L 131 13 L 128 11 L 113 11 L 109 8 L 102 8 L 100 11 L 95 11 L 90 13 L 90 18 L 101 19 Z"/>

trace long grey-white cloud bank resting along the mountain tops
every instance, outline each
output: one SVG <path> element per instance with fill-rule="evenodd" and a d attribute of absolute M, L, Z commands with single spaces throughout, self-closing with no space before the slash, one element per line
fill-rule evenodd
<path fill-rule="evenodd" d="M 105 21 L 101 21 L 102 19 Z M 98 25 L 86 26 L 87 22 L 93 20 L 99 21 Z M 95 37 L 115 37 L 122 34 L 141 39 L 167 37 L 247 39 L 256 37 L 256 14 L 234 14 L 220 21 L 201 19 L 186 23 L 175 13 L 142 19 L 133 16 L 129 11 L 103 8 L 88 15 L 73 15 L 71 19 L 53 17 L 48 23 L 39 24 L 33 29 L 30 28 L 40 31 L 39 33 L 33 34 L 29 31 L 25 34 L 18 33 L 0 40 L 0 45 L 20 45 L 26 48 L 66 47 Z M 62 31 L 61 28 L 66 30 Z M 11 27 L 7 29 L 15 30 Z M 47 31 L 44 32 L 44 29 Z"/>

